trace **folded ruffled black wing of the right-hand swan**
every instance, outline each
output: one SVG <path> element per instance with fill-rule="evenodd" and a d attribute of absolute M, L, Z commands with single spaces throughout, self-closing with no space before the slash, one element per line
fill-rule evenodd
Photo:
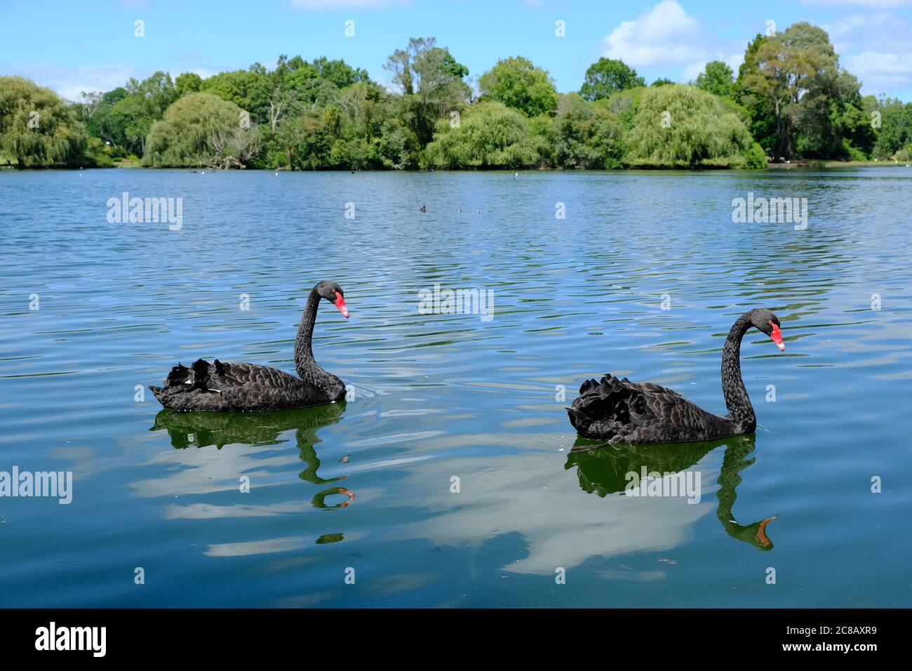
<path fill-rule="evenodd" d="M 587 380 L 579 394 L 568 413 L 582 435 L 630 442 L 693 440 L 714 421 L 673 389 L 611 374 Z"/>

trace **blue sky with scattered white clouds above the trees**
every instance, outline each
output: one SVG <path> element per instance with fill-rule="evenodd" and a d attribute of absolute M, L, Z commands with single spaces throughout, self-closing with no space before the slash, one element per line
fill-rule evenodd
<path fill-rule="evenodd" d="M 134 36 L 137 19 L 145 37 Z M 555 36 L 558 20 L 565 37 Z M 780 31 L 796 21 L 824 27 L 865 94 L 912 100 L 912 0 L 0 0 L 0 74 L 73 100 L 156 69 L 208 76 L 256 61 L 272 68 L 285 53 L 344 58 L 385 83 L 394 49 L 433 36 L 472 76 L 522 55 L 569 91 L 601 56 L 622 58 L 647 81 L 688 81 L 717 58 L 737 67 L 768 21 Z"/>

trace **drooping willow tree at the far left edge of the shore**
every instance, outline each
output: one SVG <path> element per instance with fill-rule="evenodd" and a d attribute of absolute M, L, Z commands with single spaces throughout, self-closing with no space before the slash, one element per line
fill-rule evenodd
<path fill-rule="evenodd" d="M 0 77 L 0 165 L 88 163 L 86 141 L 85 128 L 57 93 L 31 79 Z"/>

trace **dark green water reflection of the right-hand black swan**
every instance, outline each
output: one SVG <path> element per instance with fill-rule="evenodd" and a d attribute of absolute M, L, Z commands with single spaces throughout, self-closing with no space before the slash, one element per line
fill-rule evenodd
<path fill-rule="evenodd" d="M 756 460 L 755 456 L 748 458 L 753 452 L 755 440 L 756 436 L 751 434 L 709 442 L 607 446 L 594 445 L 592 441 L 579 438 L 564 467 L 576 467 L 576 476 L 583 491 L 605 497 L 626 492 L 637 484 L 642 473 L 665 478 L 673 477 L 672 474 L 683 475 L 716 447 L 724 445 L 725 455 L 722 457 L 719 491 L 716 494 L 719 501 L 716 517 L 731 538 L 749 543 L 757 550 L 772 550 L 766 526 L 775 516 L 742 525 L 731 512 L 736 498 L 735 488 L 741 484 L 741 471 Z"/>

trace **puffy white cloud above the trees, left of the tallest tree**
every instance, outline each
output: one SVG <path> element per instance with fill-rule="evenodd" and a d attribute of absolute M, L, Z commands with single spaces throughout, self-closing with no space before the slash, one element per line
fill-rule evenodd
<path fill-rule="evenodd" d="M 692 64 L 710 59 L 703 30 L 676 0 L 664 0 L 633 21 L 623 21 L 604 39 L 602 55 L 627 65 Z"/>

